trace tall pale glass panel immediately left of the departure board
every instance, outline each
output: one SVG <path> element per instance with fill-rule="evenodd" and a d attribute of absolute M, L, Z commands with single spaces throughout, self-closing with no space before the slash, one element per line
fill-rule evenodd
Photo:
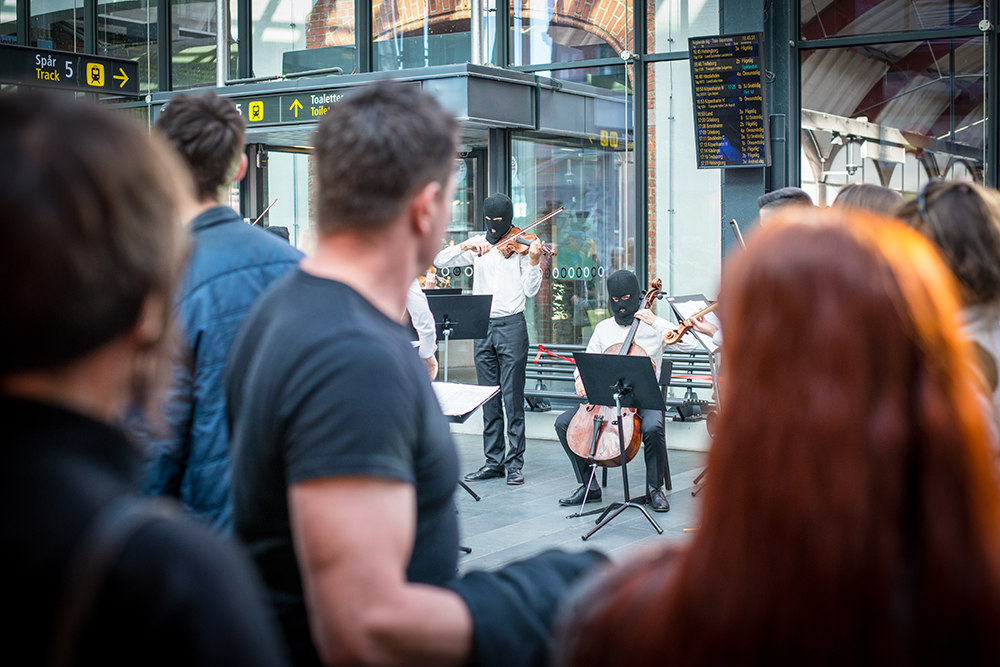
<path fill-rule="evenodd" d="M 663 280 L 665 294 L 712 298 L 721 271 L 722 170 L 697 168 L 688 61 L 654 63 L 647 76 L 649 275 Z M 659 315 L 670 319 L 667 308 Z"/>

